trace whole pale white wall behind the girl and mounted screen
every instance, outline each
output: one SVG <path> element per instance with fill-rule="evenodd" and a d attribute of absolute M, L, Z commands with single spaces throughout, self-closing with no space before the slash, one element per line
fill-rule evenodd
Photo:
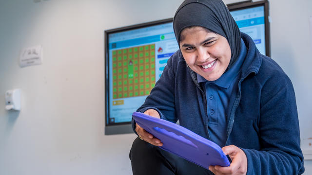
<path fill-rule="evenodd" d="M 103 31 L 171 18 L 181 1 L 0 0 L 0 174 L 131 174 L 136 136 L 104 135 Z M 270 7 L 272 57 L 292 79 L 299 117 L 311 117 L 312 2 L 271 0 Z M 20 50 L 37 44 L 43 64 L 20 68 Z M 22 89 L 20 112 L 4 110 L 12 88 Z M 311 124 L 300 120 L 302 128 Z M 312 162 L 305 167 L 312 174 Z"/>

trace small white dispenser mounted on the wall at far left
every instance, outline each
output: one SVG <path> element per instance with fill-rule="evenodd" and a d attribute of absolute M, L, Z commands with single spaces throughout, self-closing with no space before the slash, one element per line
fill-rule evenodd
<path fill-rule="evenodd" d="M 5 109 L 20 110 L 20 89 L 12 89 L 5 92 Z"/>

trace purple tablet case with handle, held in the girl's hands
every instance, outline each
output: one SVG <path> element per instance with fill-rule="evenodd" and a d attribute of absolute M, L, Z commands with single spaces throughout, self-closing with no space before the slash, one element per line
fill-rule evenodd
<path fill-rule="evenodd" d="M 222 149 L 214 142 L 169 121 L 134 112 L 132 117 L 138 125 L 161 140 L 161 149 L 171 152 L 201 167 L 210 165 L 230 166 Z"/>

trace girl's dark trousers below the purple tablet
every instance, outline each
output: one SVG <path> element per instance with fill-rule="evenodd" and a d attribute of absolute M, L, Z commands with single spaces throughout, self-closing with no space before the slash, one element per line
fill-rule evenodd
<path fill-rule="evenodd" d="M 129 157 L 133 175 L 214 175 L 138 137 L 132 144 Z"/>

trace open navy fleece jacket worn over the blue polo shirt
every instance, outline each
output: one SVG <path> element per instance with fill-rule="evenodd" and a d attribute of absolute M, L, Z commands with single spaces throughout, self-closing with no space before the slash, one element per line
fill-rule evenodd
<path fill-rule="evenodd" d="M 300 175 L 304 166 L 292 82 L 273 59 L 259 53 L 252 38 L 241 35 L 247 55 L 238 91 L 226 111 L 226 145 L 245 152 L 247 175 Z M 137 111 L 154 108 L 162 119 L 179 120 L 181 126 L 210 139 L 206 103 L 196 73 L 177 51 Z"/>

